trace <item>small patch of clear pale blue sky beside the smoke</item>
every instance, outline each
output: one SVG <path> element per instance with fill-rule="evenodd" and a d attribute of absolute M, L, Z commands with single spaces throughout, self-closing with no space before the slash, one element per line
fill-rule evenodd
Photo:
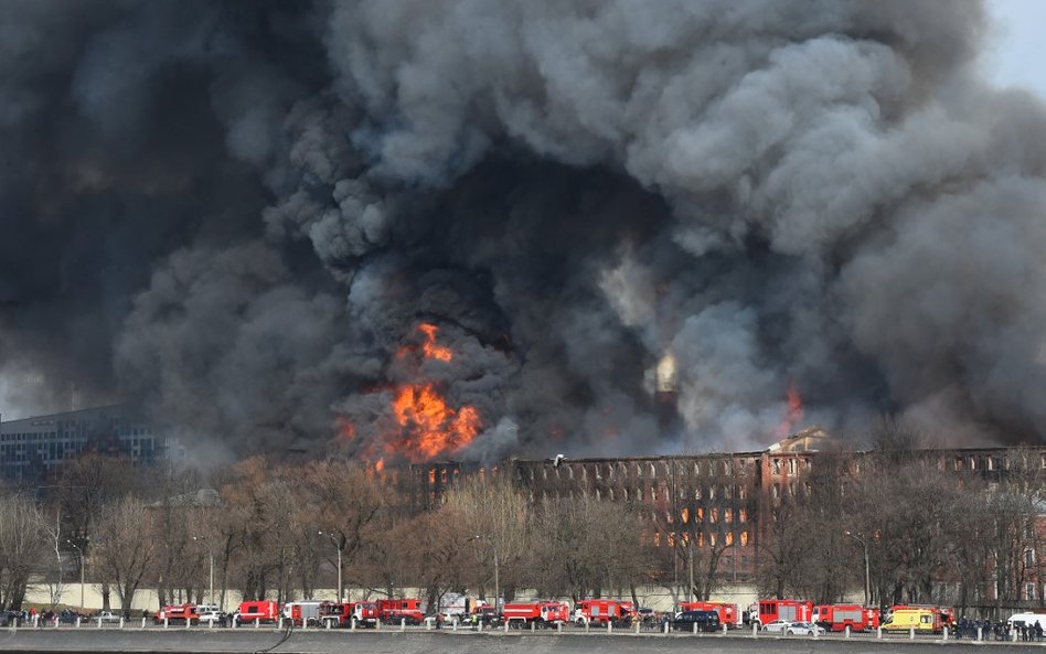
<path fill-rule="evenodd" d="M 1000 86 L 1028 88 L 1046 98 L 1046 1 L 992 0 L 990 10 L 997 23 L 985 52 L 984 73 Z"/>

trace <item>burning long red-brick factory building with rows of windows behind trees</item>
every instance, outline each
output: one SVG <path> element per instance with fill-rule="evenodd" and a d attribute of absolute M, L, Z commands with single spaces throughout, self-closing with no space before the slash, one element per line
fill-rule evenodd
<path fill-rule="evenodd" d="M 665 457 L 521 460 L 498 467 L 453 461 L 416 464 L 412 501 L 415 510 L 438 506 L 444 494 L 472 475 L 509 474 L 532 502 L 588 494 L 596 498 L 630 503 L 649 517 L 645 536 L 653 545 L 685 547 L 690 551 L 719 556 L 718 576 L 727 583 L 755 582 L 760 542 L 769 537 L 768 511 L 781 497 L 809 491 L 804 475 L 819 455 L 839 452 L 828 435 L 807 429 L 764 451 L 680 454 Z M 842 452 L 851 475 L 860 475 L 868 452 Z M 911 453 L 942 474 L 975 474 L 989 486 L 1010 470 L 1046 472 L 1046 447 L 968 448 L 917 450 Z M 845 483 L 845 482 L 844 482 Z M 1046 510 L 1037 516 L 1037 530 L 1046 536 Z M 1046 543 L 1046 537 L 1040 539 Z M 691 549 L 693 548 L 693 549 Z M 668 553 L 666 553 L 668 554 Z M 1034 551 L 1028 557 L 1046 553 Z M 764 555 L 766 556 L 766 555 Z M 676 557 L 675 581 L 681 566 Z M 664 559 L 668 560 L 668 557 Z M 665 581 L 673 570 L 663 570 Z M 1037 571 L 1023 583 L 1024 600 L 1046 596 L 1046 577 Z M 943 580 L 948 583 L 948 580 Z M 943 586 L 942 586 L 943 588 Z"/>

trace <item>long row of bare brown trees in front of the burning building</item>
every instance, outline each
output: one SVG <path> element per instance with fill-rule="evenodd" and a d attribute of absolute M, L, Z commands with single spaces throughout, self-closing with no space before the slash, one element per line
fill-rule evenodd
<path fill-rule="evenodd" d="M 780 493 L 750 492 L 756 534 L 739 580 L 760 597 L 816 602 L 867 582 L 877 605 L 1043 605 L 1038 451 L 1007 450 L 990 472 L 944 470 L 920 438 L 886 421 L 871 449 L 821 451 Z M 430 511 L 412 511 L 412 491 L 339 459 L 258 457 L 203 478 L 87 453 L 53 484 L 10 489 L 0 503 L 0 603 L 20 608 L 30 582 L 58 602 L 81 561 L 104 608 L 125 610 L 143 588 L 161 604 L 311 599 L 334 588 L 339 561 L 344 588 L 419 588 L 430 603 L 448 592 L 489 599 L 495 577 L 505 599 L 527 589 L 637 602 L 642 586 L 707 599 L 738 579 L 721 562 L 738 544 L 659 542 L 663 516 L 642 502 L 535 500 L 510 474 L 465 479 Z"/>

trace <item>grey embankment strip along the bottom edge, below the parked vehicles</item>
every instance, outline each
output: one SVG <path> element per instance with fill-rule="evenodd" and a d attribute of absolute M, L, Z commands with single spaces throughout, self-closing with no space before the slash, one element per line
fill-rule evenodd
<path fill-rule="evenodd" d="M 270 629 L 21 629 L 0 631 L 0 652 L 200 652 L 278 654 L 705 654 L 726 653 L 834 653 L 894 654 L 922 652 L 971 652 L 990 650 L 1042 651 L 1042 644 L 909 641 L 903 637 L 777 637 L 750 634 L 690 635 L 554 632 L 467 632 L 408 630 L 381 632 L 345 630 L 295 630 L 286 634 Z"/>

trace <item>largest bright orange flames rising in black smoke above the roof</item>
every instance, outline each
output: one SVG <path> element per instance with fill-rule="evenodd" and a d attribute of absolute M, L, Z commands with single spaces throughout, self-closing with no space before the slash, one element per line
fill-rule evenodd
<path fill-rule="evenodd" d="M 436 342 L 439 328 L 421 323 L 417 329 L 424 334 L 424 342 L 420 346 L 402 347 L 396 358 L 415 357 L 418 364 L 425 360 L 453 361 L 453 351 Z M 385 465 L 385 455 L 402 457 L 414 463 L 427 461 L 469 444 L 482 427 L 476 407 L 451 407 L 436 382 L 418 380 L 396 386 L 389 412 L 395 421 L 394 428 L 378 437 L 380 444 L 370 443 L 359 452 L 364 459 L 376 460 L 378 472 Z M 355 436 L 352 424 L 345 420 L 341 427 L 342 436 L 352 440 Z"/>

